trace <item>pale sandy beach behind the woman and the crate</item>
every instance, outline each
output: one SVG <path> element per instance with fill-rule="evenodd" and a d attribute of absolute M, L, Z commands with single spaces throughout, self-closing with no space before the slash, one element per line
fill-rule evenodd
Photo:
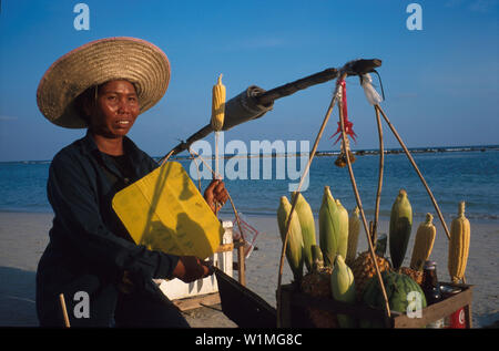
<path fill-rule="evenodd" d="M 34 277 L 37 265 L 48 242 L 52 214 L 0 213 L 0 327 L 35 327 Z M 275 307 L 282 242 L 274 217 L 251 216 L 248 220 L 262 233 L 257 250 L 247 259 L 247 288 Z M 419 223 L 422 218 L 415 218 Z M 437 225 L 437 239 L 431 259 L 438 264 L 440 280 L 448 281 L 447 237 Z M 450 226 L 450 221 L 448 223 Z M 388 231 L 388 221 L 380 221 L 379 233 Z M 415 237 L 413 230 L 405 266 L 408 266 Z M 367 249 L 364 233 L 358 250 Z M 499 224 L 471 223 L 471 244 L 466 277 L 475 285 L 472 301 L 473 328 L 492 324 L 499 320 Z M 285 262 L 283 283 L 291 281 L 291 270 Z M 236 278 L 236 273 L 235 273 Z M 184 312 L 194 328 L 234 328 L 220 306 L 204 307 Z"/>

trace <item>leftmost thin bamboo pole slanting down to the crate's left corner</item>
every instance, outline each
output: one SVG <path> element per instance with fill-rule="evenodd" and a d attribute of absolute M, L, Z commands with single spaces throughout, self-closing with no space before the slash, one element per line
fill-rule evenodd
<path fill-rule="evenodd" d="M 345 79 L 346 78 L 346 73 L 342 73 L 342 78 Z M 309 154 L 307 165 L 305 166 L 305 169 L 304 169 L 304 173 L 303 173 L 302 178 L 299 180 L 298 188 L 296 189 L 296 193 L 299 193 L 299 190 L 302 189 L 303 182 L 304 182 L 305 177 L 308 174 L 312 161 L 314 159 L 315 153 L 317 151 L 318 143 L 319 143 L 319 141 L 320 141 L 320 138 L 322 138 L 322 136 L 324 134 L 324 130 L 326 128 L 326 125 L 327 125 L 327 122 L 329 121 L 329 117 L 330 117 L 330 114 L 333 112 L 333 109 L 336 105 L 336 102 L 338 100 L 338 92 L 339 92 L 339 89 L 338 89 L 338 85 L 336 85 L 335 93 L 334 93 L 333 99 L 330 101 L 329 107 L 327 109 L 327 112 L 326 112 L 326 115 L 324 117 L 323 124 L 320 125 L 320 128 L 319 128 L 319 131 L 317 133 L 317 136 L 315 138 L 314 146 L 312 147 L 312 152 Z M 291 226 L 289 226 L 291 220 L 289 219 L 292 218 L 293 213 L 295 211 L 297 199 L 298 199 L 298 196 L 295 196 L 292 199 L 292 208 L 291 208 L 291 211 L 289 211 L 288 220 L 286 221 L 286 235 L 284 236 L 283 248 L 281 250 L 279 271 L 278 271 L 278 277 L 277 277 L 277 293 L 276 293 L 277 295 L 277 303 L 276 303 L 277 304 L 276 306 L 277 307 L 276 308 L 277 309 L 277 328 L 279 328 L 281 324 L 282 324 L 282 322 L 281 322 L 281 298 L 282 298 L 281 285 L 282 285 L 282 279 L 283 279 L 284 256 L 286 254 L 287 239 L 289 237 L 289 228 L 291 228 Z"/>

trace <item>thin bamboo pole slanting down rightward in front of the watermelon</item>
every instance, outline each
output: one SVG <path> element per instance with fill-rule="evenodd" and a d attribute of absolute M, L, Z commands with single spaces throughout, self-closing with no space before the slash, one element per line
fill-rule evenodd
<path fill-rule="evenodd" d="M 338 81 L 338 82 L 340 82 L 340 81 Z M 338 86 L 339 86 L 339 84 L 338 84 Z M 339 106 L 339 124 L 342 126 L 342 138 L 343 138 L 344 145 L 346 146 L 347 145 L 347 141 L 346 141 L 347 136 L 346 136 L 346 133 L 345 133 L 345 121 L 344 121 L 344 116 L 343 116 L 342 99 L 339 99 L 338 106 Z M 348 151 L 346 151 L 346 152 L 348 153 Z M 360 200 L 360 195 L 358 194 L 357 183 L 355 182 L 354 171 L 352 169 L 352 162 L 350 162 L 350 158 L 348 156 L 346 157 L 346 161 L 347 161 L 347 166 L 348 166 L 348 174 L 350 175 L 352 187 L 354 188 L 355 200 L 357 202 L 357 206 L 358 206 L 358 209 L 360 211 L 360 217 L 363 218 L 363 225 L 364 225 L 364 230 L 366 231 L 366 236 L 367 236 L 367 244 L 368 244 L 368 247 L 369 247 L 370 257 L 373 259 L 373 264 L 374 264 L 375 270 L 376 270 L 376 276 L 378 278 L 379 286 L 380 286 L 381 292 L 383 292 L 383 298 L 385 300 L 385 313 L 386 313 L 387 318 L 390 318 L 391 317 L 390 304 L 388 302 L 388 297 L 387 297 L 387 293 L 386 293 L 385 283 L 383 282 L 381 272 L 379 271 L 378 261 L 376 260 L 376 254 L 374 251 L 373 242 L 371 242 L 371 239 L 369 237 L 370 230 L 369 230 L 369 226 L 367 225 L 366 216 L 364 214 L 364 208 L 363 208 L 363 203 Z"/>

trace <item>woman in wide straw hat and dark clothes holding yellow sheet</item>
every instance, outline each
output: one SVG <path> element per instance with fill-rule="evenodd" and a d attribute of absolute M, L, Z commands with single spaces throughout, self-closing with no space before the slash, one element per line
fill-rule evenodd
<path fill-rule="evenodd" d="M 40 326 L 63 326 L 63 293 L 71 326 L 189 327 L 152 279 L 190 282 L 212 269 L 196 257 L 135 245 L 111 207 L 119 190 L 157 167 L 126 134 L 164 95 L 169 80 L 166 55 L 132 38 L 78 48 L 42 78 L 37 92 L 42 114 L 59 126 L 88 131 L 54 156 L 49 171 L 54 219 L 37 271 Z M 228 195 L 214 180 L 204 196 L 214 209 Z"/>

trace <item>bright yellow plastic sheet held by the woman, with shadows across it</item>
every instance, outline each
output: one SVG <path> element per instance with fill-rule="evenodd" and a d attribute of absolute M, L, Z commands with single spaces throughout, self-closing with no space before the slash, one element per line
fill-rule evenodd
<path fill-rule="evenodd" d="M 205 259 L 224 233 L 177 162 L 165 163 L 119 192 L 112 206 L 135 244 L 151 250 Z"/>

